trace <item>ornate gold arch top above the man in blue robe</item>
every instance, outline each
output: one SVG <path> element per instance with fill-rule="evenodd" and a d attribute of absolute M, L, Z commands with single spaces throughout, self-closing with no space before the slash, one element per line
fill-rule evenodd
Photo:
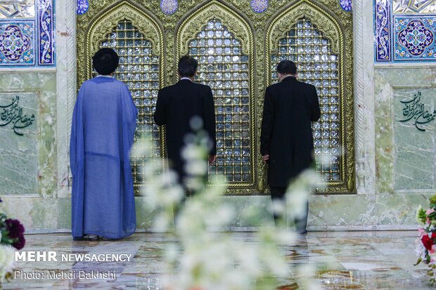
<path fill-rule="evenodd" d="M 112 32 L 113 28 L 117 26 L 117 23 L 121 20 L 129 20 L 134 27 L 151 42 L 153 47 L 153 54 L 159 56 L 159 79 L 160 87 L 164 86 L 164 64 L 165 60 L 162 57 L 162 53 L 165 47 L 165 39 L 163 34 L 162 25 L 155 20 L 152 15 L 149 15 L 146 11 L 138 8 L 129 1 L 122 1 L 107 10 L 96 15 L 86 29 L 84 36 L 84 51 L 78 51 L 78 60 L 83 62 L 77 63 L 77 70 L 84 72 L 79 74 L 78 85 L 81 85 L 85 78 L 91 78 L 91 55 L 94 55 L 102 41 L 105 40 L 106 35 Z M 81 57 L 83 56 L 83 57 Z"/>

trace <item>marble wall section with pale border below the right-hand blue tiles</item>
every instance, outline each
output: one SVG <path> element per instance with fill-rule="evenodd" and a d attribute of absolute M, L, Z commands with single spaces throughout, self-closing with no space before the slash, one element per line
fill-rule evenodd
<path fill-rule="evenodd" d="M 415 126 L 415 118 L 404 116 L 401 101 L 413 100 L 421 92 L 427 120 L 435 110 L 436 70 L 432 67 L 376 70 L 376 171 L 377 191 L 422 193 L 435 190 L 435 120 Z M 416 104 L 416 112 L 421 105 Z M 410 104 L 412 105 L 412 104 Z M 413 109 L 413 106 L 410 107 Z M 423 116 L 418 121 L 424 121 Z"/>

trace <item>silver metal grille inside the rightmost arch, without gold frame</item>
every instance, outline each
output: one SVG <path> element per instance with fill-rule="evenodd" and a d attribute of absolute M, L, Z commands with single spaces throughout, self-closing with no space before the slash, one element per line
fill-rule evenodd
<path fill-rule="evenodd" d="M 328 39 L 307 19 L 298 20 L 286 37 L 278 42 L 278 53 L 271 56 L 272 79 L 277 81 L 277 63 L 293 60 L 297 63 L 298 79 L 313 84 L 319 95 L 321 119 L 312 124 L 315 155 L 331 160 L 316 168 L 323 180 L 340 180 L 340 102 L 338 55 L 331 53 Z"/>

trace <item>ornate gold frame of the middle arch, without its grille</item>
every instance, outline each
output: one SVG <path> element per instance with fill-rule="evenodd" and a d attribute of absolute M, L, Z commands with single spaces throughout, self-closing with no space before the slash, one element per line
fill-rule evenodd
<path fill-rule="evenodd" d="M 253 37 L 252 27 L 248 21 L 238 14 L 234 9 L 226 6 L 222 2 L 212 0 L 205 5 L 200 6 L 194 13 L 188 15 L 185 19 L 179 22 L 176 31 L 176 54 L 174 62 L 176 62 L 181 55 L 188 53 L 189 41 L 195 39 L 197 34 L 201 32 L 203 27 L 212 18 L 219 19 L 222 24 L 231 32 L 234 37 L 241 41 L 242 53 L 248 55 L 250 60 L 249 66 L 249 87 L 250 87 L 250 131 L 251 131 L 251 171 L 252 183 L 231 183 L 227 192 L 244 195 L 250 193 L 258 193 L 262 185 L 259 184 L 259 172 L 257 167 L 257 144 L 256 144 L 256 115 L 255 115 L 255 41 Z M 174 63 L 174 67 L 177 67 Z"/>

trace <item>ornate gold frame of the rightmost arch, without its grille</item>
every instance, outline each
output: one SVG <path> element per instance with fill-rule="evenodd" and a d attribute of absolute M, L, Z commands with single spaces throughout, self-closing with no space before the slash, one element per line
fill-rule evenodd
<path fill-rule="evenodd" d="M 346 193 L 355 188 L 354 180 L 354 108 L 352 91 L 352 39 L 345 39 L 345 32 L 334 14 L 327 8 L 321 8 L 309 0 L 300 0 L 274 15 L 265 35 L 265 81 L 271 84 L 271 54 L 278 49 L 279 39 L 285 37 L 290 27 L 301 18 L 308 18 L 331 42 L 333 53 L 339 56 L 339 91 L 340 91 L 340 140 L 342 144 L 341 180 L 329 181 L 323 192 Z"/>

